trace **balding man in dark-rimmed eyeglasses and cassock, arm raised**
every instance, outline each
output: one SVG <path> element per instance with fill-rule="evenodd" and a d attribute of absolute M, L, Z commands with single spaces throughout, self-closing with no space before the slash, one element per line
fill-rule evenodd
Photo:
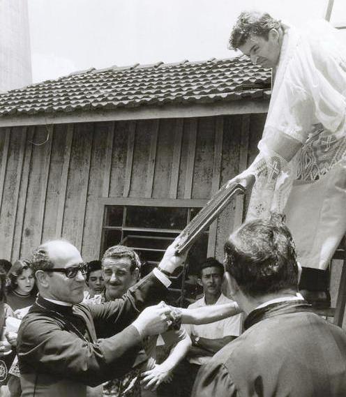
<path fill-rule="evenodd" d="M 171 309 L 152 306 L 163 299 L 172 273 L 183 262 L 167 249 L 159 269 L 121 299 L 80 304 L 86 267 L 68 241 L 49 241 L 33 253 L 39 296 L 22 320 L 17 351 L 22 397 L 82 397 L 87 385 L 121 377 L 132 368 L 142 340 L 171 324 Z M 98 341 L 96 339 L 104 338 Z"/>

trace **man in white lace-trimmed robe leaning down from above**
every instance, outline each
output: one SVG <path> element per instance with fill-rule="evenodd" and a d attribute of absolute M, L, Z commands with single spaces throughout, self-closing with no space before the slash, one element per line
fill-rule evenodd
<path fill-rule="evenodd" d="M 260 153 L 233 179 L 248 189 L 255 181 L 247 220 L 285 214 L 299 262 L 324 288 L 322 270 L 346 232 L 345 40 L 323 20 L 297 29 L 268 13 L 243 11 L 230 47 L 273 71 Z M 304 287 L 315 290 L 314 283 Z"/>

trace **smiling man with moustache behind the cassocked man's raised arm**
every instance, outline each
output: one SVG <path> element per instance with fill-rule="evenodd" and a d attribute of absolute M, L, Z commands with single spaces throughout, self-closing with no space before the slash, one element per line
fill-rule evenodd
<path fill-rule="evenodd" d="M 100 304 L 119 299 L 140 279 L 141 262 L 135 250 L 126 246 L 112 246 L 103 254 L 103 278 L 105 290 L 90 299 L 89 303 Z M 135 397 L 140 395 L 141 373 L 145 371 L 144 384 L 156 389 L 159 384 L 170 379 L 173 368 L 183 359 L 191 345 L 184 329 L 172 329 L 160 336 L 160 342 L 170 349 L 170 357 L 160 366 L 156 365 L 156 341 L 158 336 L 146 338 L 144 350 L 139 352 L 134 368 L 121 379 L 110 380 L 103 385 L 105 394 L 121 396 L 123 391 Z M 143 394 L 152 396 L 142 388 Z"/>

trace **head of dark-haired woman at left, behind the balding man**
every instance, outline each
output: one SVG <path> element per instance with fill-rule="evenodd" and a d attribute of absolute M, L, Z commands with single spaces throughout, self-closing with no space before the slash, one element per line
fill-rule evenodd
<path fill-rule="evenodd" d="M 36 299 L 35 277 L 27 260 L 17 260 L 8 272 L 7 303 L 13 311 L 31 306 Z"/>

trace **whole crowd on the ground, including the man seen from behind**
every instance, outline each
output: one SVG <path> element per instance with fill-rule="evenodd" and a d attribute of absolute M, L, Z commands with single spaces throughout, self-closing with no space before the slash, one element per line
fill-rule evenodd
<path fill-rule="evenodd" d="M 224 264 L 201 265 L 204 294 L 188 308 L 163 301 L 170 274 L 186 259 L 175 245 L 144 278 L 132 248 L 112 246 L 89 266 L 64 240 L 40 245 L 7 274 L 1 267 L 0 360 L 12 351 L 19 364 L 3 394 L 346 395 L 345 331 L 299 294 L 301 267 L 281 216 L 231 234 Z M 221 291 L 224 279 L 234 301 Z M 13 308 L 6 290 L 16 293 Z M 16 316 L 17 333 L 6 330 Z"/>

